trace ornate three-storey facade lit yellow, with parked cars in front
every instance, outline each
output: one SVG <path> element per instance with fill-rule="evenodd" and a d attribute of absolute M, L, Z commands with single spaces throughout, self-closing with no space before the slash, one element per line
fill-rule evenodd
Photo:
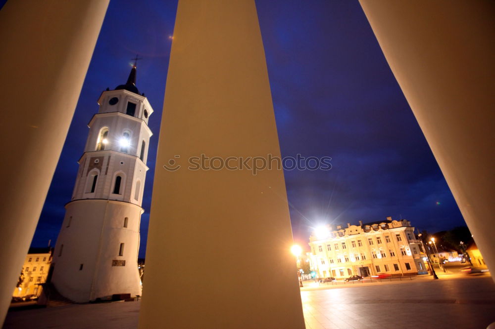
<path fill-rule="evenodd" d="M 309 237 L 311 266 L 320 278 L 413 275 L 426 271 L 421 242 L 405 219 L 347 227 L 327 225 Z"/>

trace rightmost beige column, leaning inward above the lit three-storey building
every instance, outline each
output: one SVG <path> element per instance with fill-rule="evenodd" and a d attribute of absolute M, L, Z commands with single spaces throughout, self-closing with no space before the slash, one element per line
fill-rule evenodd
<path fill-rule="evenodd" d="M 476 244 L 495 272 L 495 4 L 360 2 Z M 416 161 L 421 160 L 411 159 Z"/>

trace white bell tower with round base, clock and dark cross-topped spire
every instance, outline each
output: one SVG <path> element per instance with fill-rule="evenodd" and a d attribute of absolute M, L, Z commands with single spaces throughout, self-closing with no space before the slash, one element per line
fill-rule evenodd
<path fill-rule="evenodd" d="M 139 227 L 153 109 L 136 87 L 136 64 L 98 104 L 53 255 L 51 282 L 75 302 L 141 295 Z"/>

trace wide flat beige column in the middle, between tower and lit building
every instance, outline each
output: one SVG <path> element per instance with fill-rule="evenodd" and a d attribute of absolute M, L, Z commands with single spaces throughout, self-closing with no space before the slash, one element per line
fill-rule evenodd
<path fill-rule="evenodd" d="M 280 156 L 253 0 L 179 1 L 140 328 L 304 328 L 283 171 L 201 154 Z"/>

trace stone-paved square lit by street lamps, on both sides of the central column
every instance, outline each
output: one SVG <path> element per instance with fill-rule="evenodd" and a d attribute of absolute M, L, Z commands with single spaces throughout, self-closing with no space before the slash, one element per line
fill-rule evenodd
<path fill-rule="evenodd" d="M 342 285 L 302 290 L 301 298 L 307 329 L 485 329 L 495 321 L 495 284 L 490 276 Z M 12 310 L 3 328 L 137 328 L 140 304 L 114 302 Z M 163 328 L 167 328 L 166 324 Z"/>

